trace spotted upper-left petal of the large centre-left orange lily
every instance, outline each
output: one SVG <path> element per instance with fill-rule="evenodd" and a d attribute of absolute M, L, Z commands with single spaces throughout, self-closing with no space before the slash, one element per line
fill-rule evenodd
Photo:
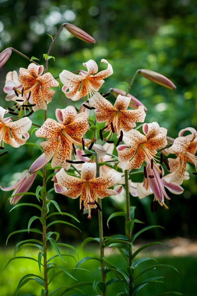
<path fill-rule="evenodd" d="M 35 132 L 35 136 L 57 141 L 60 131 L 64 128 L 64 124 L 56 122 L 54 119 L 47 118 L 43 125 Z"/>

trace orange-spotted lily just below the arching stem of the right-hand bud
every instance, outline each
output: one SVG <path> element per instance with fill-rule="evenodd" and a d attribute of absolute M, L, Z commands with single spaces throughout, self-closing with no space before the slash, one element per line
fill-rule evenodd
<path fill-rule="evenodd" d="M 135 127 L 135 122 L 144 122 L 146 116 L 143 106 L 139 106 L 136 110 L 127 110 L 130 100 L 130 97 L 118 95 L 113 106 L 96 92 L 89 99 L 89 102 L 91 106 L 96 108 L 95 115 L 97 122 L 106 121 L 105 131 L 111 131 L 119 135 L 121 130 L 128 132 Z"/>

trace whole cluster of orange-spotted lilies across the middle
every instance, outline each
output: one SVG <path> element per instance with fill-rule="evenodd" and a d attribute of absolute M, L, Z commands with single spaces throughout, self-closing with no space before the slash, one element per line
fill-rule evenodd
<path fill-rule="evenodd" d="M 9 58 L 10 51 L 7 48 L 0 53 L 0 67 Z M 44 138 L 40 144 L 43 154 L 33 162 L 19 182 L 9 187 L 1 186 L 5 191 L 14 190 L 11 204 L 16 204 L 29 190 L 36 172 L 49 161 L 57 172 L 53 178 L 55 191 L 73 199 L 80 196 L 80 212 L 86 210 L 89 219 L 91 209 L 94 212 L 101 210 L 98 198 L 121 193 L 125 170 L 141 169 L 144 176 L 140 183 L 129 180 L 131 195 L 144 198 L 154 194 L 154 204 L 159 202 L 165 208 L 165 198 L 170 199 L 165 188 L 174 194 L 181 194 L 184 190 L 181 185 L 189 179 L 186 163 L 194 164 L 197 170 L 197 131 L 187 127 L 179 132 L 176 139 L 168 138 L 167 130 L 157 122 L 144 123 L 147 109 L 132 95 L 116 88 L 111 88 L 106 95 L 99 93 L 103 79 L 113 74 L 112 66 L 105 59 L 101 62 L 107 68 L 100 72 L 97 63 L 89 60 L 83 64 L 86 71 L 79 70 L 75 74 L 76 71 L 63 70 L 60 73 L 62 91 L 66 97 L 72 101 L 86 97 L 87 101 L 81 104 L 79 110 L 72 105 L 56 109 L 56 120 L 47 118 L 36 130 L 36 137 Z M 140 70 L 139 74 L 175 89 L 174 84 L 161 74 L 149 70 Z M 6 75 L 3 89 L 7 94 L 5 100 L 13 101 L 14 107 L 8 110 L 0 107 L 1 149 L 4 149 L 4 143 L 15 148 L 26 143 L 32 126 L 30 116 L 33 117 L 33 112 L 40 109 L 47 110 L 55 93 L 53 88 L 58 86 L 59 82 L 52 74 L 34 62 L 27 69 L 20 68 L 19 74 L 12 71 Z M 108 100 L 110 93 L 115 96 L 114 105 Z M 24 110 L 25 114 L 21 117 Z M 96 122 L 104 123 L 99 130 L 99 141 L 96 138 L 86 139 L 91 112 L 95 112 Z M 7 113 L 9 116 L 5 117 Z M 136 122 L 142 124 L 142 133 L 136 128 Z M 117 141 L 113 140 L 114 135 Z M 159 156 L 158 150 L 161 152 Z M 174 157 L 166 160 L 169 153 Z M 118 171 L 112 168 L 117 161 Z M 98 163 L 104 163 L 99 170 Z M 71 165 L 76 168 L 75 177 L 69 174 Z"/>

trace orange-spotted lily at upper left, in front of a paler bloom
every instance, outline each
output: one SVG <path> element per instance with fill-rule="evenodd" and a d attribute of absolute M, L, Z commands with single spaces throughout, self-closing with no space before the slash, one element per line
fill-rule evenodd
<path fill-rule="evenodd" d="M 44 71 L 43 66 L 37 66 L 31 63 L 28 69 L 20 68 L 19 70 L 19 82 L 22 84 L 23 93 L 30 93 L 32 96 L 33 111 L 39 109 L 46 110 L 47 103 L 50 103 L 55 91 L 51 87 L 58 86 L 59 82 L 49 73 L 42 75 Z"/>

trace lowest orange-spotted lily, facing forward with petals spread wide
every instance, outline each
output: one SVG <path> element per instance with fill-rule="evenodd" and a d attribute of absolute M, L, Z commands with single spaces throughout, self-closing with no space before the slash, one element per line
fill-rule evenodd
<path fill-rule="evenodd" d="M 121 174 L 114 169 L 98 178 L 96 171 L 96 163 L 86 162 L 82 164 L 81 179 L 69 176 L 64 169 L 56 174 L 58 185 L 64 188 L 64 191 L 58 193 L 73 199 L 80 196 L 81 212 L 88 210 L 88 219 L 91 219 L 91 209 L 99 208 L 98 198 L 118 194 L 118 190 L 108 188 L 121 180 Z"/>

